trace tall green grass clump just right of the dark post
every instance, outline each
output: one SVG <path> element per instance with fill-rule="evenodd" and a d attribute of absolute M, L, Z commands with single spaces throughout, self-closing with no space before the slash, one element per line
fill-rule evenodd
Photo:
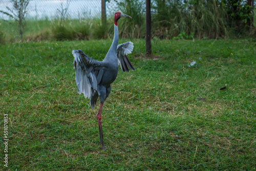
<path fill-rule="evenodd" d="M 199 1 L 194 5 L 181 5 L 174 1 L 158 0 L 154 7 L 153 35 L 172 38 L 185 32 L 197 38 L 227 37 L 232 29 L 227 26 L 226 11 L 215 1 Z"/>

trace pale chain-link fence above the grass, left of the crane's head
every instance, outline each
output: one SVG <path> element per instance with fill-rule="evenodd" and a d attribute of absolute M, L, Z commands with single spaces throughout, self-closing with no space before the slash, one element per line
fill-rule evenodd
<path fill-rule="evenodd" d="M 113 13 L 114 1 L 106 2 L 106 16 Z M 10 0 L 0 0 L 0 11 L 13 9 Z M 27 7 L 28 18 L 54 18 L 63 15 L 70 18 L 101 17 L 101 0 L 31 0 Z M 0 18 L 8 19 L 8 15 L 0 13 Z"/>

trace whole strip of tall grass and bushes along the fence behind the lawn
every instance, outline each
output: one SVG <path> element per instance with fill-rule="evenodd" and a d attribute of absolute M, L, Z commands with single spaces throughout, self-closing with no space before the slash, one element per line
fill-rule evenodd
<path fill-rule="evenodd" d="M 114 1 L 114 0 L 113 0 Z M 119 21 L 120 37 L 145 37 L 144 1 L 121 0 L 118 9 L 133 19 Z M 152 1 L 152 37 L 167 39 L 241 38 L 255 37 L 255 20 L 246 1 Z M 0 21 L 0 41 L 19 40 L 14 21 Z M 113 16 L 105 25 L 100 18 L 69 19 L 59 15 L 55 19 L 27 19 L 24 41 L 77 40 L 112 38 Z"/>

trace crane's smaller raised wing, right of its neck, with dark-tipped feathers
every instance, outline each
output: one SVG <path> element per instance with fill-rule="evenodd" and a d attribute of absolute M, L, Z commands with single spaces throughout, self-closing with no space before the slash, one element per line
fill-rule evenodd
<path fill-rule="evenodd" d="M 127 58 L 127 54 L 132 53 L 133 51 L 133 42 L 127 41 L 124 44 L 120 44 L 117 46 L 117 59 L 119 61 L 119 65 L 122 69 L 122 71 L 129 72 L 129 69 L 127 66 L 134 71 L 134 68 L 130 62 L 130 60 Z"/>

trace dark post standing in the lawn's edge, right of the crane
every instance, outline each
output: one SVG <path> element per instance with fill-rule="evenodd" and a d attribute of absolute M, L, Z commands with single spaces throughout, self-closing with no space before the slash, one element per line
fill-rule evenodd
<path fill-rule="evenodd" d="M 151 0 L 146 0 L 146 54 L 151 55 Z"/>

